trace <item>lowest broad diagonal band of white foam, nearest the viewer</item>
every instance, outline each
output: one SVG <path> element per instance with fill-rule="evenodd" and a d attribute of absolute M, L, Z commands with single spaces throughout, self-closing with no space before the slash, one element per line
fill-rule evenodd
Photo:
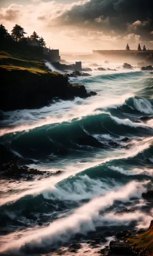
<path fill-rule="evenodd" d="M 120 225 L 130 223 L 131 220 L 135 220 L 137 216 L 137 221 L 144 221 L 147 225 L 151 220 L 151 216 L 138 214 L 137 215 L 123 215 L 117 216 L 108 214 L 106 216 L 100 216 L 99 210 L 105 210 L 111 206 L 115 200 L 120 200 L 122 202 L 127 202 L 131 197 L 140 198 L 142 192 L 146 191 L 145 185 L 148 182 L 135 182 L 132 181 L 129 184 L 120 187 L 117 190 L 108 192 L 105 196 L 97 197 L 92 199 L 90 202 L 82 205 L 77 210 L 74 210 L 73 214 L 63 219 L 58 219 L 53 223 L 50 223 L 48 227 L 37 229 L 34 231 L 25 230 L 20 233 L 19 239 L 14 239 L 10 236 L 10 239 L 5 239 L 8 242 L 2 244 L 1 252 L 19 249 L 22 246 L 48 246 L 56 245 L 57 242 L 66 242 L 70 237 L 74 236 L 75 233 L 86 234 L 88 231 L 95 230 L 96 226 L 103 226 L 106 222 L 110 221 L 110 225 L 115 223 Z M 19 234 L 19 232 L 18 232 Z M 16 235 L 15 235 L 16 236 Z M 9 238 L 9 236 L 7 236 Z M 3 240 L 3 238 L 2 238 Z"/>

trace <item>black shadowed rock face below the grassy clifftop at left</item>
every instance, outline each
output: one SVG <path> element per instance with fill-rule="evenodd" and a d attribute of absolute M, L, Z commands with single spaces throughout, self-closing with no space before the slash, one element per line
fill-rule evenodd
<path fill-rule="evenodd" d="M 45 74 L 31 73 L 28 70 L 11 70 L 0 68 L 0 94 L 3 111 L 16 109 L 33 109 L 52 103 L 52 99 L 72 99 L 91 96 L 82 84 L 70 84 L 67 75 L 56 72 Z"/>

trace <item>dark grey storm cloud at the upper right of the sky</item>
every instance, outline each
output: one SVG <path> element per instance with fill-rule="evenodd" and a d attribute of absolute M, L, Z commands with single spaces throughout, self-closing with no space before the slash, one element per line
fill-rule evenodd
<path fill-rule="evenodd" d="M 61 16 L 65 24 L 96 27 L 124 33 L 145 33 L 153 30 L 152 0 L 91 0 L 73 6 Z M 138 23 L 135 23 L 139 21 Z"/>

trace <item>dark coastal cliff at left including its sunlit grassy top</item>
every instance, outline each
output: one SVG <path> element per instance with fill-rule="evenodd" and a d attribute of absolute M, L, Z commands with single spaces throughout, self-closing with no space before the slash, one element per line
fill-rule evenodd
<path fill-rule="evenodd" d="M 67 75 L 47 70 L 43 61 L 22 56 L 14 56 L 8 52 L 0 52 L 0 109 L 38 108 L 52 99 L 72 99 L 75 96 L 86 98 L 87 93 L 82 84 L 71 84 Z"/>

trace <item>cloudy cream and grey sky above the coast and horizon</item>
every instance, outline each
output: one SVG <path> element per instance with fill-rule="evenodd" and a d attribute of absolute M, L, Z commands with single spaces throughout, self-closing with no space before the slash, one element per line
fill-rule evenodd
<path fill-rule="evenodd" d="M 0 23 L 15 24 L 61 53 L 153 49 L 152 0 L 0 0 Z"/>

